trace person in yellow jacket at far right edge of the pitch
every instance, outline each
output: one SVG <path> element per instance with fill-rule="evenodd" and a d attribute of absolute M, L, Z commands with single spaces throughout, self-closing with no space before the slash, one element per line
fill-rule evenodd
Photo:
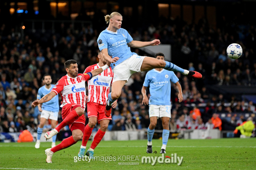
<path fill-rule="evenodd" d="M 237 134 L 238 130 L 240 130 L 240 138 L 249 138 L 252 136 L 252 131 L 254 130 L 254 128 L 255 125 L 252 122 L 252 117 L 248 117 L 247 121 L 244 121 L 240 126 L 236 127 L 236 130 L 234 130 L 234 134 Z"/>

